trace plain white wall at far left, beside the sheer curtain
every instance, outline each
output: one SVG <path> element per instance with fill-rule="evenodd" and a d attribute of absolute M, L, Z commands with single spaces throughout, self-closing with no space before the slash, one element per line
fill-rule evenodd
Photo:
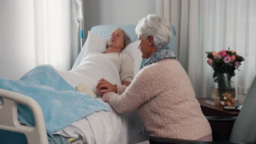
<path fill-rule="evenodd" d="M 0 77 L 19 79 L 34 67 L 33 0 L 0 1 Z"/>

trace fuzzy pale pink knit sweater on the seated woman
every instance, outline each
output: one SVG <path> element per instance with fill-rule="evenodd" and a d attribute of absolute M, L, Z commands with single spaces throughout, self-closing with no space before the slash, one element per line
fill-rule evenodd
<path fill-rule="evenodd" d="M 187 73 L 175 59 L 141 69 L 129 87 L 103 95 L 117 112 L 138 109 L 150 136 L 199 140 L 212 134 Z"/>

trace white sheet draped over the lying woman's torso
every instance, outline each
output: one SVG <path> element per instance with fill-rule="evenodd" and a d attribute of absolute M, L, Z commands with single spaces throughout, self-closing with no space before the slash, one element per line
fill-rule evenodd
<path fill-rule="evenodd" d="M 121 85 L 117 67 L 103 55 L 88 55 L 74 70 L 57 72 L 73 87 L 85 83 L 96 94 L 97 81 L 101 78 Z"/>

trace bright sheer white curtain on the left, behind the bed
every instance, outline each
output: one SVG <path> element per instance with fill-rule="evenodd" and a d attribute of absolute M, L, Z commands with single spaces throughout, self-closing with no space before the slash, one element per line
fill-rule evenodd
<path fill-rule="evenodd" d="M 34 1 L 36 66 L 71 68 L 71 14 L 69 0 Z"/>

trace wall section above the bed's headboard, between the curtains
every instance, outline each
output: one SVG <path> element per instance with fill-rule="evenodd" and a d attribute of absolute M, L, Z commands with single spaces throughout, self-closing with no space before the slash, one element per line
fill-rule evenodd
<path fill-rule="evenodd" d="M 85 36 L 96 25 L 137 24 L 155 13 L 155 0 L 84 0 Z"/>

